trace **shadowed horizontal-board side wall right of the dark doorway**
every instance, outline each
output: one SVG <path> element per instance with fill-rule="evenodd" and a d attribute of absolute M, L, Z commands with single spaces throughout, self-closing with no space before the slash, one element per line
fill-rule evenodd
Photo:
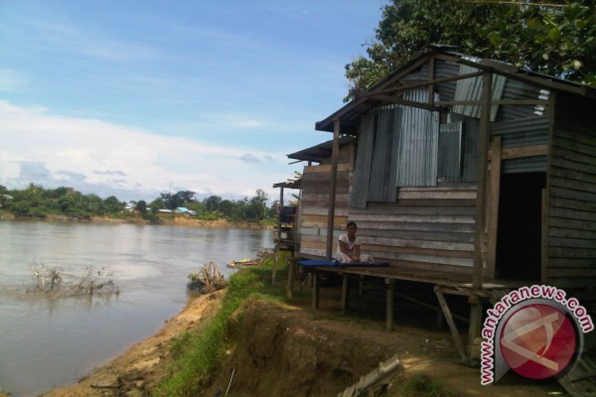
<path fill-rule="evenodd" d="M 567 288 L 596 281 L 595 104 L 580 99 L 556 98 L 548 168 L 547 283 Z"/>

